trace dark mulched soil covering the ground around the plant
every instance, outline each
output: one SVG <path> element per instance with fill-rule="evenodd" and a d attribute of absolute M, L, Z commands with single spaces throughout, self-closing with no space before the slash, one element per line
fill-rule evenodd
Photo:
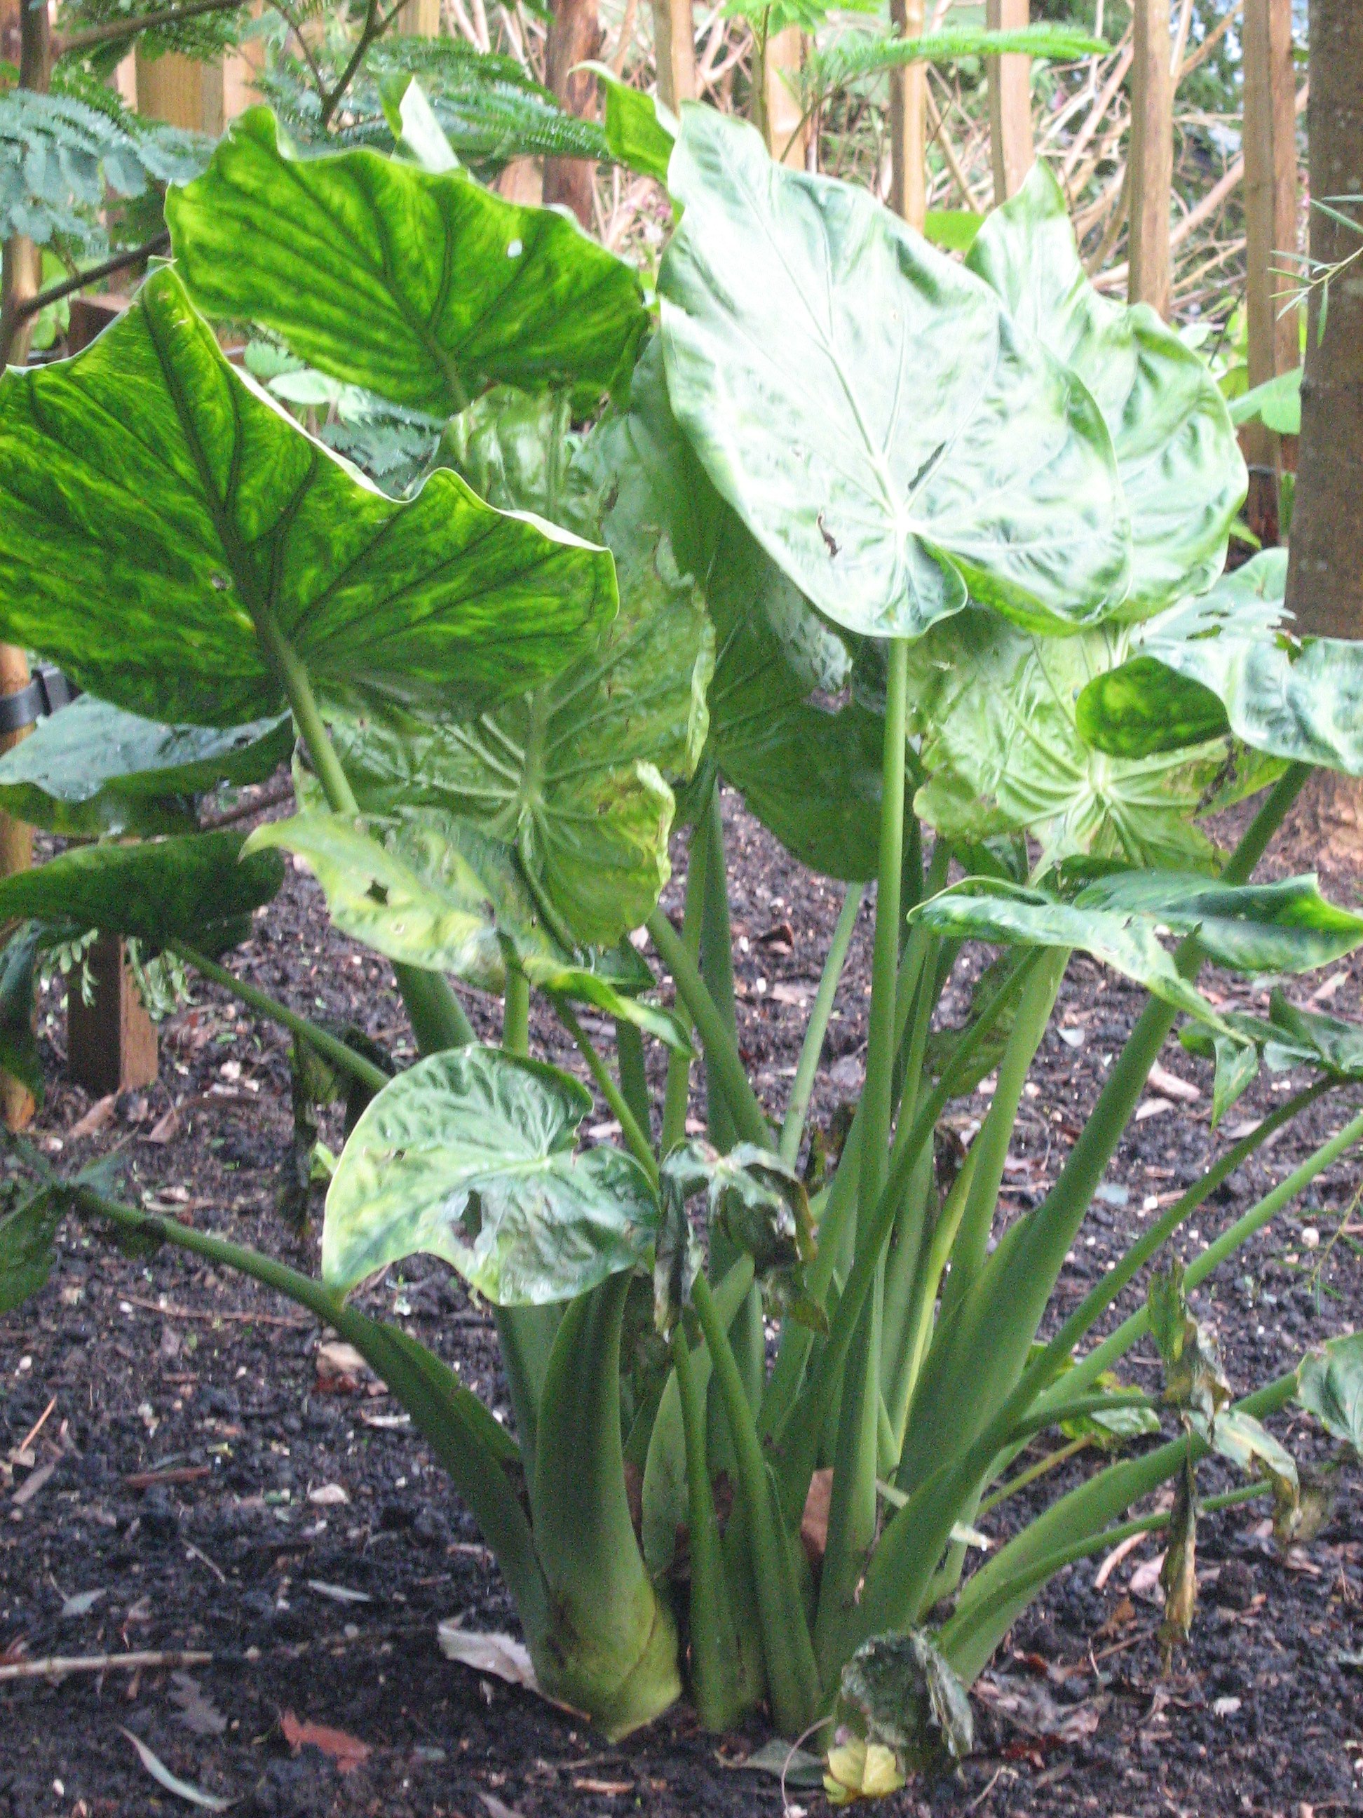
<path fill-rule="evenodd" d="M 798 873 L 732 802 L 727 818 L 741 1045 L 761 1098 L 776 1109 L 838 891 Z M 1336 880 L 1341 893 L 1352 894 L 1347 878 Z M 672 907 L 674 898 L 676 887 Z M 863 909 L 816 1100 L 821 1124 L 860 1089 L 869 949 Z M 307 878 L 291 876 L 233 964 L 294 1007 L 356 1020 L 398 1058 L 411 1056 L 387 965 L 329 931 Z M 1363 965 L 1336 971 L 1345 976 L 1328 1004 L 1358 1014 Z M 961 967 L 950 1014 L 963 1011 L 967 989 Z M 78 1138 L 73 1127 L 89 1100 L 64 1080 L 53 987 L 44 1016 L 49 1096 L 36 1140 L 64 1167 L 118 1151 L 125 1198 L 313 1267 L 316 1229 L 300 1238 L 274 1209 L 291 1140 L 285 1044 L 216 991 L 194 985 L 193 996 L 194 1007 L 162 1027 L 156 1085 L 120 1098 L 102 1129 Z M 1249 987 L 1234 993 L 1234 1002 L 1250 998 Z M 1070 965 L 1010 1160 L 1014 1213 L 1054 1180 L 1138 1004 L 1121 980 L 1089 962 Z M 491 1034 L 483 1007 L 471 1009 Z M 540 1051 L 567 1062 L 554 1025 L 536 1016 L 534 1034 Z M 1209 1069 L 1176 1044 L 1163 1060 L 1203 1096 L 1132 1127 L 1109 1176 L 1121 1191 L 1094 1209 L 1061 1282 L 1061 1305 L 1141 1229 L 1145 1207 L 1192 1180 L 1223 1142 L 1209 1127 Z M 1274 1096 L 1274 1082 L 1256 1087 L 1230 1127 Z M 958 1125 L 978 1120 L 983 1104 L 963 1100 Z M 167 1120 L 174 1107 L 178 1116 Z M 1185 1253 L 1345 1114 L 1341 1102 L 1327 1100 L 1278 1138 L 1194 1220 Z M 602 1111 L 602 1122 L 607 1116 Z M 323 1129 L 340 1140 L 334 1124 Z M 1330 1169 L 1203 1293 L 1198 1311 L 1218 1325 L 1236 1387 L 1361 1324 L 1358 1184 L 1356 1158 Z M 463 1380 L 507 1413 L 491 1325 L 443 1265 L 405 1264 L 369 1304 L 456 1360 Z M 1121 1311 L 1130 1305 L 1132 1294 Z M 763 1740 L 760 1729 L 716 1740 L 678 1709 L 607 1747 L 527 1693 L 442 1660 L 434 1629 L 443 1616 L 514 1629 L 491 1556 L 393 1402 L 374 1383 L 323 1393 L 316 1347 L 307 1318 L 249 1282 L 182 1254 L 104 1254 L 75 1229 L 64 1234 L 47 1289 L 0 1320 L 0 1458 L 55 1402 L 31 1445 L 33 1465 L 0 1465 L 0 1660 L 129 1649 L 213 1654 L 178 1674 L 0 1685 L 0 1814 L 189 1809 L 156 1785 L 124 1731 L 200 1789 L 280 1818 L 780 1813 L 776 1783 L 734 1765 Z M 1152 1382 L 1154 1358 L 1139 1353 L 1129 1374 Z M 1301 1456 L 1321 1453 L 1305 1418 L 1274 1425 Z M 47 1465 L 55 1469 L 42 1476 Z M 140 1474 L 156 1482 L 138 1487 Z M 1058 1482 L 1065 1478 L 1047 1480 Z M 1207 1469 L 1203 1489 L 1218 1482 Z M 35 1487 L 15 1500 L 25 1485 Z M 336 1491 L 329 1500 L 329 1485 L 343 1500 Z M 1030 1507 L 1040 1507 L 1041 1489 Z M 1010 1520 L 1025 1513 L 1025 1498 L 1000 1514 L 1014 1507 Z M 1003 1533 L 1007 1523 L 985 1525 Z M 1056 1580 L 981 1682 L 980 1753 L 958 1780 L 910 1789 L 887 1813 L 1363 1811 L 1358 1478 L 1343 1480 L 1319 1538 L 1287 1560 L 1265 1538 L 1261 1503 L 1203 1522 L 1203 1607 L 1169 1678 L 1159 1674 L 1152 1593 L 1139 1594 L 1141 1576 L 1130 1583 L 1156 1551 L 1156 1542 L 1138 1547 L 1101 1591 L 1098 1562 Z M 349 1594 L 338 1598 L 338 1589 Z M 294 1753 L 285 1713 L 345 1731 L 371 1753 L 345 1774 L 314 1745 Z M 823 1809 L 820 1793 L 792 1791 L 791 1800 Z"/>

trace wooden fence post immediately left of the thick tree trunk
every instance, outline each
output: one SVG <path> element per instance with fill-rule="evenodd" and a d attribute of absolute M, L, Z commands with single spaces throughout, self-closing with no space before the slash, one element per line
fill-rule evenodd
<path fill-rule="evenodd" d="M 1249 382 L 1261 385 L 1299 360 L 1298 313 L 1283 311 L 1298 236 L 1298 122 L 1292 0 L 1245 0 L 1245 264 Z M 1265 545 L 1278 542 L 1279 438 L 1247 424 L 1250 471 L 1245 516 Z"/>

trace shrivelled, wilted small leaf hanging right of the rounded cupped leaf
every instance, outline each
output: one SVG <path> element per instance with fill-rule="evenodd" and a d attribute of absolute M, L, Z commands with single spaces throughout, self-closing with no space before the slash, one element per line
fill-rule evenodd
<path fill-rule="evenodd" d="M 678 1144 L 663 1160 L 660 1191 L 671 1264 L 665 1293 L 654 1278 L 662 1329 L 676 1318 L 680 1293 L 694 1280 L 682 1225 L 687 1200 L 703 1191 L 711 1225 L 734 1251 L 752 1258 L 774 1313 L 827 1331 L 827 1314 L 805 1284 L 805 1267 L 814 1258 L 814 1220 L 805 1184 L 792 1167 L 756 1144 L 736 1144 L 729 1154 L 720 1154 L 711 1144 L 692 1140 Z"/>

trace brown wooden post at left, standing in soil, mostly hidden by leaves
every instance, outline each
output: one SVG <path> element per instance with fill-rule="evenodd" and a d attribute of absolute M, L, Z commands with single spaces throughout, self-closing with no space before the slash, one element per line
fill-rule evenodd
<path fill-rule="evenodd" d="M 80 353 L 89 347 L 124 309 L 125 296 L 73 296 L 67 349 Z M 75 974 L 67 982 L 67 1076 L 96 1098 L 151 1085 L 156 1078 L 156 1025 L 138 996 L 124 942 L 116 934 L 100 934 L 85 964 L 95 982 L 95 1002 L 87 1005 L 82 1000 Z"/>

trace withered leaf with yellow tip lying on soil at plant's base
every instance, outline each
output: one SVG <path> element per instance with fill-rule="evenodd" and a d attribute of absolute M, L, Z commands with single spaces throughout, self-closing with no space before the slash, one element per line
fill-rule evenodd
<path fill-rule="evenodd" d="M 878 1634 L 858 1647 L 841 1671 L 836 1716 L 825 1776 L 834 1805 L 894 1791 L 910 1773 L 941 1771 L 974 1747 L 965 1687 L 921 1629 Z"/>

